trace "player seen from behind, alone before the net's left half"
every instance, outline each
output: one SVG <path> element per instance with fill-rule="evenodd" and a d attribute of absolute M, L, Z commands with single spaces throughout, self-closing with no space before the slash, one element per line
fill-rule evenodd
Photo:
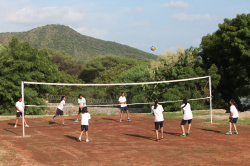
<path fill-rule="evenodd" d="M 80 142 L 82 140 L 82 134 L 83 134 L 83 131 L 85 129 L 86 142 L 89 142 L 88 130 L 89 130 L 89 120 L 91 119 L 91 117 L 90 117 L 90 114 L 88 113 L 88 108 L 83 107 L 81 113 L 82 113 L 82 115 L 81 115 L 81 134 L 80 134 L 80 137 L 78 138 L 78 141 Z"/>

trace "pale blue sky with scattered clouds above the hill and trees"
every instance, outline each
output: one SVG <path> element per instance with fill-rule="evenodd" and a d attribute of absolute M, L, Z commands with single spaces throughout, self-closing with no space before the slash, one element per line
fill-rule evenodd
<path fill-rule="evenodd" d="M 0 32 L 63 24 L 79 33 L 160 55 L 199 47 L 224 18 L 250 13 L 249 0 L 0 0 Z M 153 52 L 150 46 L 156 46 Z"/>

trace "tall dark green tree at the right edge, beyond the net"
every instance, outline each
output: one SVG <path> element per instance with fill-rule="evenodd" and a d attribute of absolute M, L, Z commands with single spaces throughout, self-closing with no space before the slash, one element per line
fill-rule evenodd
<path fill-rule="evenodd" d="M 225 108 L 230 99 L 240 105 L 239 97 L 250 92 L 250 15 L 224 19 L 216 32 L 202 38 L 200 56 L 205 70 L 215 65 L 221 75 L 218 95 L 214 98 L 220 101 L 218 107 Z"/>

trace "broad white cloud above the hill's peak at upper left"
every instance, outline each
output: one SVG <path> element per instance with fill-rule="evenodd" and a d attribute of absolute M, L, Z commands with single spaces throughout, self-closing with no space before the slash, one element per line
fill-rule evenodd
<path fill-rule="evenodd" d="M 84 12 L 77 12 L 70 7 L 22 8 L 7 14 L 5 21 L 12 23 L 58 23 L 76 22 L 86 18 Z"/>

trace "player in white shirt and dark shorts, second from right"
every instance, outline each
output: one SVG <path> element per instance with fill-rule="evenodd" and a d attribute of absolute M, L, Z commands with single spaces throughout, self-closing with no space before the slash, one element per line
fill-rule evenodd
<path fill-rule="evenodd" d="M 180 135 L 180 136 L 186 137 L 184 125 L 188 122 L 187 135 L 189 135 L 190 129 L 191 129 L 191 122 L 193 119 L 193 114 L 191 111 L 191 105 L 187 102 L 187 99 L 184 99 L 182 102 L 183 102 L 183 104 L 181 105 L 181 111 L 183 112 L 183 119 L 181 121 L 182 135 Z"/>

